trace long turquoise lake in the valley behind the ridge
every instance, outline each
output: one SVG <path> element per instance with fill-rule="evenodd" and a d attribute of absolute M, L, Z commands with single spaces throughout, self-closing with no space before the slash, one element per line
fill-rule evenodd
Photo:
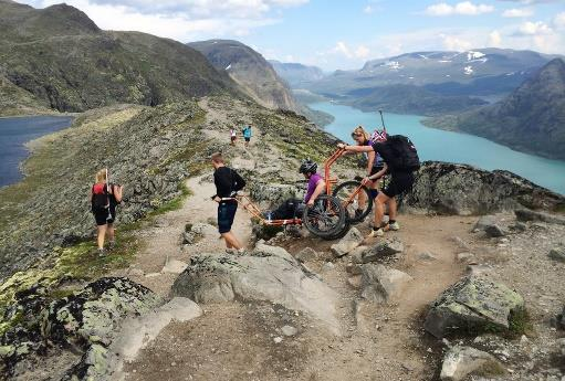
<path fill-rule="evenodd" d="M 352 142 L 352 130 L 362 125 L 372 133 L 381 126 L 378 113 L 363 113 L 349 106 L 329 102 L 314 103 L 310 107 L 331 114 L 335 120 L 325 127 L 328 133 Z M 385 114 L 389 134 L 408 136 L 421 160 L 469 163 L 482 169 L 505 169 L 530 181 L 565 194 L 565 161 L 527 155 L 472 135 L 444 131 L 423 126 L 421 116 Z"/>

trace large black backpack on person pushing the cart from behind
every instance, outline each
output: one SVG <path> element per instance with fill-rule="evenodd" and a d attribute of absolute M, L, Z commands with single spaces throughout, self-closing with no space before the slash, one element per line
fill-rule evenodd
<path fill-rule="evenodd" d="M 416 171 L 420 169 L 420 158 L 412 141 L 404 135 L 389 135 L 386 141 L 373 147 L 383 156 L 393 171 Z"/>

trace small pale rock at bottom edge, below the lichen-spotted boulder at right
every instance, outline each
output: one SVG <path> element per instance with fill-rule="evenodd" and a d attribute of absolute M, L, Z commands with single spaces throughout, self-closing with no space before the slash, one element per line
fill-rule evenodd
<path fill-rule="evenodd" d="M 440 379 L 460 381 L 467 375 L 500 375 L 504 373 L 502 363 L 492 354 L 471 347 L 452 347 L 443 358 Z"/>

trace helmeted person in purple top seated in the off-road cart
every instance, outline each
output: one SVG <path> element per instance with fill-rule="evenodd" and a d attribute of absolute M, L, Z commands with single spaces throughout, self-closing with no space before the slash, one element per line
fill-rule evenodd
<path fill-rule="evenodd" d="M 326 182 L 317 173 L 317 163 L 303 160 L 299 172 L 308 181 L 304 200 L 289 199 L 273 212 L 266 212 L 265 216 L 273 220 L 286 220 L 302 215 L 305 205 L 313 205 L 320 194 L 325 193 Z"/>

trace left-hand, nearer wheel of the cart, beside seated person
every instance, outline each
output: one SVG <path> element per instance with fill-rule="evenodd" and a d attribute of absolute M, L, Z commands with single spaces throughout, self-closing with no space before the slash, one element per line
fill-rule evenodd
<path fill-rule="evenodd" d="M 302 223 L 314 235 L 328 239 L 339 232 L 347 216 L 339 200 L 333 195 L 322 194 L 314 205 L 306 205 Z"/>

